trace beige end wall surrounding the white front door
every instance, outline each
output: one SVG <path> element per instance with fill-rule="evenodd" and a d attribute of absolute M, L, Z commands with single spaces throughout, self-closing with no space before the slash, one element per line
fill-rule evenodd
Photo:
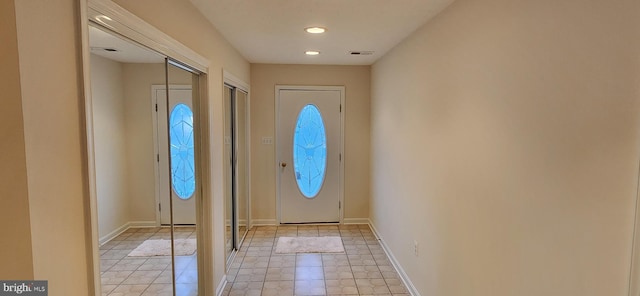
<path fill-rule="evenodd" d="M 345 98 L 345 218 L 369 216 L 370 67 L 251 65 L 251 210 L 252 219 L 276 219 L 275 86 L 344 85 Z"/>

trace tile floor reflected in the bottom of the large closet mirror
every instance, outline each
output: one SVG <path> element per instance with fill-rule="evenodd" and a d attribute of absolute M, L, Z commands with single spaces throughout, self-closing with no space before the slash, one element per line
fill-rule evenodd
<path fill-rule="evenodd" d="M 195 227 L 176 227 L 175 229 L 176 238 L 196 238 Z M 173 295 L 170 256 L 127 256 L 147 239 L 170 238 L 168 227 L 131 228 L 101 246 L 102 295 Z M 176 256 L 176 294 L 197 295 L 197 278 L 196 254 Z"/>

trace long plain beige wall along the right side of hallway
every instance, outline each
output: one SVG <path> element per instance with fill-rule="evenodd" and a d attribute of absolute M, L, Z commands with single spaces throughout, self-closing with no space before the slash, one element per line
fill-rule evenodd
<path fill-rule="evenodd" d="M 626 295 L 639 95 L 636 0 L 458 0 L 377 62 L 371 218 L 420 294 Z"/>

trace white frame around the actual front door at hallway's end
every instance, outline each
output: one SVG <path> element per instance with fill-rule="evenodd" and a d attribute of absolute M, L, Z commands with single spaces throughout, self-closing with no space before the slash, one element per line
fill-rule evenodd
<path fill-rule="evenodd" d="M 278 155 L 280 152 L 280 143 L 278 141 L 279 139 L 279 131 L 278 131 L 278 120 L 280 119 L 280 91 L 281 90 L 301 90 L 301 91 L 339 91 L 340 92 L 340 106 L 341 106 L 341 112 L 340 112 L 340 177 L 339 177 L 339 197 L 338 200 L 340 202 L 340 207 L 338 209 L 339 215 L 340 215 L 340 219 L 339 219 L 339 223 L 343 224 L 344 223 L 344 163 L 345 163 L 345 159 L 346 159 L 346 155 L 344 153 L 344 125 L 345 125 L 345 120 L 344 120 L 344 116 L 346 113 L 346 104 L 345 104 L 345 93 L 346 93 L 346 88 L 344 86 L 319 86 L 319 85 L 276 85 L 275 87 L 275 95 L 274 95 L 274 100 L 275 100 L 275 149 L 274 149 L 274 153 L 275 153 L 275 157 L 274 160 L 275 162 L 273 163 L 273 167 L 274 167 L 274 172 L 276 174 L 276 219 L 278 224 L 282 224 L 282 211 L 280 208 L 281 205 L 281 198 L 280 198 L 280 160 L 278 159 Z"/>

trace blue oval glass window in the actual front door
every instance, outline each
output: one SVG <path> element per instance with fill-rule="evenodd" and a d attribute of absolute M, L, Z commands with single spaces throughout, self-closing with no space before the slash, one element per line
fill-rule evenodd
<path fill-rule="evenodd" d="M 300 192 L 314 198 L 320 192 L 327 169 L 327 137 L 318 107 L 306 105 L 298 114 L 293 132 L 293 170 Z"/>

